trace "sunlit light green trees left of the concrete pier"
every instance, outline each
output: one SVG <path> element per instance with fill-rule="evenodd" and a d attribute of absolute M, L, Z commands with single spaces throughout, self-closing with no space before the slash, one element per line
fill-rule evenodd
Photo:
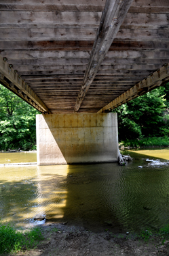
<path fill-rule="evenodd" d="M 0 85 L 0 150 L 35 148 L 35 115 L 22 99 Z"/>

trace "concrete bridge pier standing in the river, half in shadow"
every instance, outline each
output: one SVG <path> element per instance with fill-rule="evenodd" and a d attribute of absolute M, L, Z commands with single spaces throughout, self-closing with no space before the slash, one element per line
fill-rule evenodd
<path fill-rule="evenodd" d="M 37 115 L 37 164 L 116 162 L 117 114 Z"/>

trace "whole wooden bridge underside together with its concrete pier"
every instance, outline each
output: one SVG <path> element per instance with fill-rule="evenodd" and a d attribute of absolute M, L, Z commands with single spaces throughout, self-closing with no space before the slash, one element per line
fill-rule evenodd
<path fill-rule="evenodd" d="M 0 83 L 37 116 L 39 165 L 118 158 L 104 113 L 169 81 L 168 0 L 0 0 Z"/>

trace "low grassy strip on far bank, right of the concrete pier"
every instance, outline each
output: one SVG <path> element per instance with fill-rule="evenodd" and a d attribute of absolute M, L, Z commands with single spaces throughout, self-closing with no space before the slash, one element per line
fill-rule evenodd
<path fill-rule="evenodd" d="M 168 147 L 169 146 L 169 137 L 149 137 L 141 139 L 133 139 L 121 141 L 120 145 L 124 147 Z"/>

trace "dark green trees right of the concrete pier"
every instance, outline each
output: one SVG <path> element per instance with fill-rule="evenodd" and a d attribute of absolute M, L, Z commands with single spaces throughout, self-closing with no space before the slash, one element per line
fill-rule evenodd
<path fill-rule="evenodd" d="M 144 138 L 168 137 L 168 100 L 169 83 L 115 109 L 113 112 L 118 114 L 119 141 L 129 144 L 129 141 L 134 140 L 130 144 L 147 146 L 155 140 L 147 141 Z"/>

